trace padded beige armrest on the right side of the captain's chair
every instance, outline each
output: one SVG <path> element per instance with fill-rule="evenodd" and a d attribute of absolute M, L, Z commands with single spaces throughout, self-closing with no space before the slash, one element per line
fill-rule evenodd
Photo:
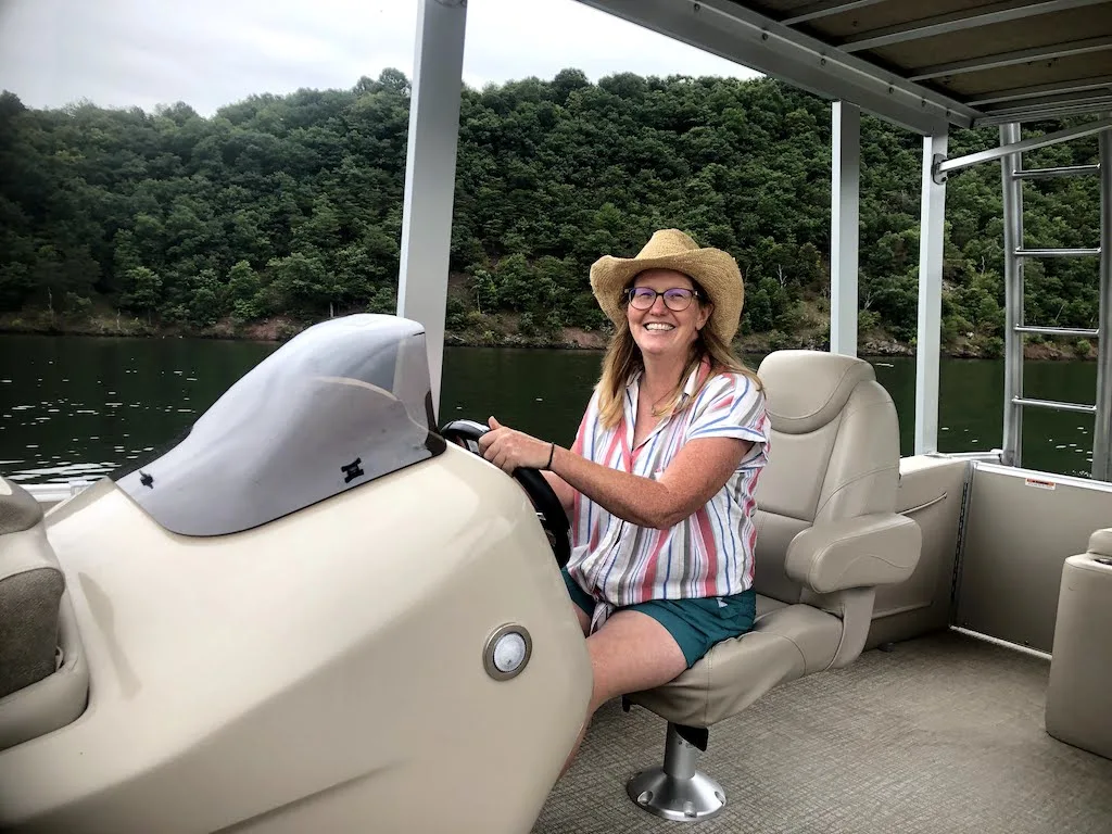
<path fill-rule="evenodd" d="M 923 534 L 895 513 L 816 524 L 787 546 L 784 569 L 816 594 L 903 582 L 919 564 Z"/>

